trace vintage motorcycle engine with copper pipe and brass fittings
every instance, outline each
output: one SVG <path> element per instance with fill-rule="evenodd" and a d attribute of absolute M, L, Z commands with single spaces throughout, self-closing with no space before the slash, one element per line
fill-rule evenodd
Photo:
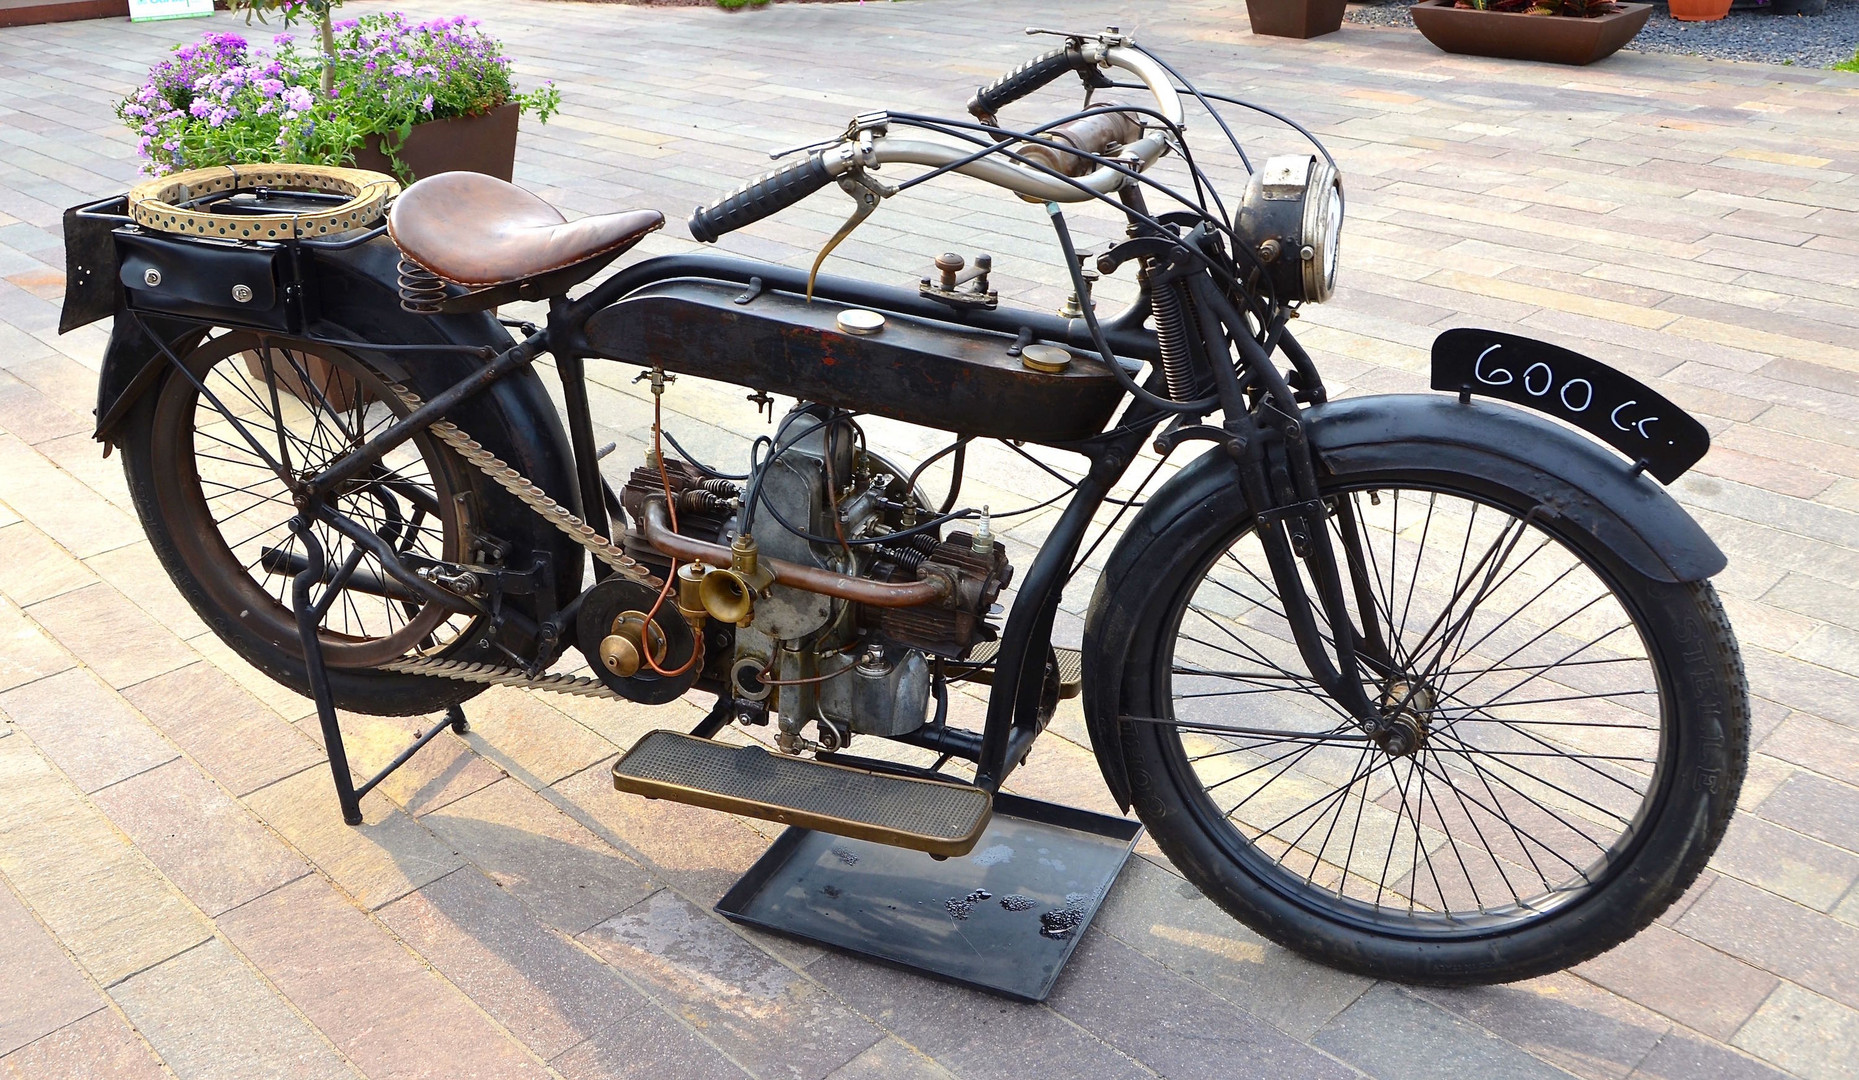
<path fill-rule="evenodd" d="M 933 662 L 961 660 L 995 638 L 987 615 L 1013 576 L 1006 548 L 985 524 L 941 533 L 926 496 L 861 446 L 844 416 L 794 409 L 740 483 L 669 455 L 664 474 L 649 461 L 621 493 L 630 520 L 653 520 L 654 509 L 669 519 L 667 485 L 679 535 L 736 552 L 731 567 L 703 573 L 695 602 L 680 602 L 693 615 L 701 604 L 697 617 L 710 623 L 705 677 L 747 710 L 766 710 L 762 719 L 773 716 L 783 749 L 831 751 L 851 734 L 916 731 L 930 718 Z M 626 547 L 658 573 L 669 567 L 639 528 L 628 530 Z M 842 599 L 805 580 L 770 580 L 771 561 L 881 584 L 933 582 L 935 599 Z M 803 734 L 809 723 L 816 740 Z"/>

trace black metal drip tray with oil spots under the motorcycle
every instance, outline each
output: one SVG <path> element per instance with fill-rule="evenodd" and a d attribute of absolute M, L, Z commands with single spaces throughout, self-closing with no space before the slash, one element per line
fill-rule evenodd
<path fill-rule="evenodd" d="M 967 855 L 788 829 L 718 902 L 734 922 L 1043 1002 L 1143 827 L 995 796 Z"/>

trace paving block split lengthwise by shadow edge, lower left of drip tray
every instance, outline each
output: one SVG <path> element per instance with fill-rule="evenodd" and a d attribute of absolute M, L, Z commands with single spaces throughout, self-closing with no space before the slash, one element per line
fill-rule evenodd
<path fill-rule="evenodd" d="M 550 933 L 472 866 L 402 896 L 379 916 L 539 1058 L 556 1058 L 653 1008 L 613 968 Z"/>

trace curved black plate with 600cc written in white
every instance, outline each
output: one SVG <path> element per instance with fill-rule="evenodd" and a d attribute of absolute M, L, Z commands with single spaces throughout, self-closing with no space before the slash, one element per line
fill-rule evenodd
<path fill-rule="evenodd" d="M 1601 361 L 1549 342 L 1482 329 L 1433 338 L 1433 389 L 1498 398 L 1567 420 L 1666 483 L 1710 450 L 1690 413 Z"/>

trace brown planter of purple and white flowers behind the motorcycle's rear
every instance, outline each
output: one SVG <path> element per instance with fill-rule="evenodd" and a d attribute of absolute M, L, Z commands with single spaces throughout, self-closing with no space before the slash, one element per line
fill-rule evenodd
<path fill-rule="evenodd" d="M 517 115 L 547 123 L 554 86 L 519 93 L 502 46 L 468 19 L 415 22 L 398 11 L 333 20 L 333 0 L 262 0 L 286 24 L 318 22 L 318 48 L 277 35 L 268 48 L 206 33 L 149 71 L 117 106 L 141 138 L 143 171 L 305 162 L 394 173 L 452 169 L 509 180 Z"/>

